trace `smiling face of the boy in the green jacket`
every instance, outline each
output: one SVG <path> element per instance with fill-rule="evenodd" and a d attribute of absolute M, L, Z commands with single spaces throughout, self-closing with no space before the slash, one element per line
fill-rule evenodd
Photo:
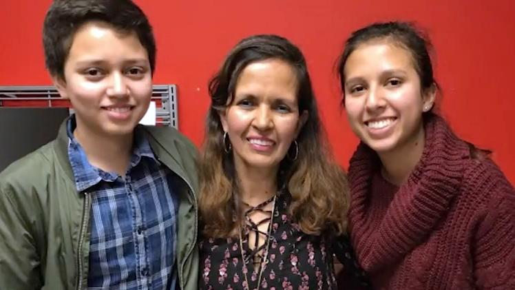
<path fill-rule="evenodd" d="M 101 21 L 85 23 L 72 40 L 65 79 L 54 78 L 76 113 L 76 133 L 132 134 L 149 106 L 149 58 L 134 32 Z"/>

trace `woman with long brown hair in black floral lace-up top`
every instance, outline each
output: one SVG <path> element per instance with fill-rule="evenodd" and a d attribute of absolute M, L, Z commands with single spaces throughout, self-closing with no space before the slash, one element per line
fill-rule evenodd
<path fill-rule="evenodd" d="M 200 160 L 201 289 L 336 289 L 346 176 L 330 158 L 302 52 L 243 39 L 209 84 Z M 344 262 L 353 267 L 352 255 Z"/>

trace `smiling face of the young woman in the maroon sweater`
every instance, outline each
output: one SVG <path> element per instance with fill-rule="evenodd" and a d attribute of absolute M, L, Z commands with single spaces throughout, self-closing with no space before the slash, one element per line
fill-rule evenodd
<path fill-rule="evenodd" d="M 422 113 L 434 92 L 421 91 L 408 50 L 387 40 L 362 43 L 344 66 L 345 110 L 353 132 L 377 153 L 423 143 Z"/>

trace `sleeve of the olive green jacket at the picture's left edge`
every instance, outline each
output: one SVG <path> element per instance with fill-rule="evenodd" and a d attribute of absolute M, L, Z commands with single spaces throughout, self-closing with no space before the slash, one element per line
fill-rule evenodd
<path fill-rule="evenodd" d="M 41 289 L 40 259 L 13 190 L 0 180 L 0 289 Z"/>

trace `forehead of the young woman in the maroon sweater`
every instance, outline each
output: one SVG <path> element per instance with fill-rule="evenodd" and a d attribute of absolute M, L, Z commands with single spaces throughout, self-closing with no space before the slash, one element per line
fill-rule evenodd
<path fill-rule="evenodd" d="M 410 51 L 394 41 L 368 41 L 350 53 L 344 66 L 346 79 L 386 70 L 416 72 Z"/>

